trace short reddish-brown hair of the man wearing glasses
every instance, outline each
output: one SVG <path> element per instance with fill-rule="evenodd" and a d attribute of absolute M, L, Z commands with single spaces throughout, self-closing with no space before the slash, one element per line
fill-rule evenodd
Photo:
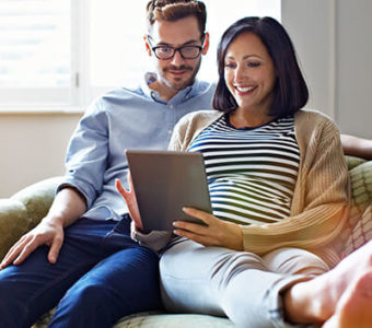
<path fill-rule="evenodd" d="M 200 36 L 206 31 L 207 11 L 202 1 L 198 0 L 151 0 L 147 5 L 148 28 L 151 31 L 155 21 L 175 22 L 194 15 L 198 20 Z"/>

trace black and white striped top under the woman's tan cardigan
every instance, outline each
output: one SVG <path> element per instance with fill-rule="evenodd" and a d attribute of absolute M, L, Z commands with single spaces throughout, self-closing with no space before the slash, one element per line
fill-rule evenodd
<path fill-rule="evenodd" d="M 224 115 L 188 150 L 204 155 L 217 218 L 264 224 L 289 216 L 300 163 L 293 116 L 236 129 Z"/>

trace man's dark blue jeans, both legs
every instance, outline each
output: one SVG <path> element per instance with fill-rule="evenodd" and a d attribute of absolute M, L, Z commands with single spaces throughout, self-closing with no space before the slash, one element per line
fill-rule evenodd
<path fill-rule="evenodd" d="M 130 220 L 81 219 L 65 231 L 55 265 L 37 248 L 0 271 L 0 327 L 32 326 L 57 306 L 50 327 L 112 327 L 120 317 L 162 307 L 159 257 L 135 243 Z"/>

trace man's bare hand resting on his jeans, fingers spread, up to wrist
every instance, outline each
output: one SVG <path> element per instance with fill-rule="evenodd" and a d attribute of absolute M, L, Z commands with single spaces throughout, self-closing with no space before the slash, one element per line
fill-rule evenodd
<path fill-rule="evenodd" d="M 58 258 L 60 247 L 63 243 L 63 224 L 61 220 L 49 220 L 45 218 L 32 231 L 26 233 L 8 251 L 0 265 L 0 269 L 13 263 L 22 263 L 31 253 L 42 245 L 50 247 L 48 261 L 55 263 Z"/>

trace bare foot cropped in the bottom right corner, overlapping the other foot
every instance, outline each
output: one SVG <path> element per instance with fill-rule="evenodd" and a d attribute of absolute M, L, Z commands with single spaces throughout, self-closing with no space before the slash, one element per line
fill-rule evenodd
<path fill-rule="evenodd" d="M 372 327 L 372 270 L 348 286 L 322 328 Z"/>

